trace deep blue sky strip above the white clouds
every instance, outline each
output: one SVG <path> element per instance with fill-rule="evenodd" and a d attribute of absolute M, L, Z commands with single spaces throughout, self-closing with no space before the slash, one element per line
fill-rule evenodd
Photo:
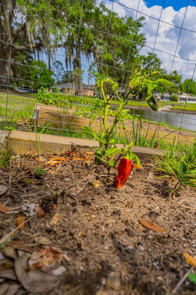
<path fill-rule="evenodd" d="M 186 7 L 188 4 L 188 0 L 148 0 L 145 1 L 145 5 L 147 7 L 152 7 L 154 5 L 163 6 L 164 8 L 168 6 L 172 6 L 175 11 L 178 11 L 181 7 Z M 196 2 L 193 0 L 189 0 L 190 6 L 196 6 Z"/>

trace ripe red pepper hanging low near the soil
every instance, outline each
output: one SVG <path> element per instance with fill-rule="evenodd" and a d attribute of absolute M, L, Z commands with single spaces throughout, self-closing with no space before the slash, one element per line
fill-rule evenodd
<path fill-rule="evenodd" d="M 123 158 L 118 166 L 118 175 L 116 175 L 116 188 L 123 187 L 133 169 L 132 160 Z"/>

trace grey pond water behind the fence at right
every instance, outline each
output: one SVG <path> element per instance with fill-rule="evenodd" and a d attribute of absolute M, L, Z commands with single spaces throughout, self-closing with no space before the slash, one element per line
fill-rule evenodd
<path fill-rule="evenodd" d="M 130 113 L 133 114 L 133 109 L 130 109 Z M 134 108 L 134 114 L 141 114 L 142 119 L 155 121 L 161 124 L 168 124 L 178 128 L 184 128 L 191 131 L 196 131 L 196 113 L 189 112 L 175 112 L 175 111 L 162 111 L 154 112 L 150 110 L 139 110 Z"/>

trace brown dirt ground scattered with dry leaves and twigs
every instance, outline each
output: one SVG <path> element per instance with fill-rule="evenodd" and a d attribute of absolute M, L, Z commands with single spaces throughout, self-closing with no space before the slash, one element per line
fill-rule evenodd
<path fill-rule="evenodd" d="M 138 156 L 143 168 L 120 190 L 117 168 L 107 176 L 89 153 L 23 155 L 11 174 L 0 169 L 9 187 L 0 203 L 10 210 L 0 213 L 1 295 L 174 294 L 190 269 L 183 253 L 196 254 L 196 190 L 168 199 L 173 184 Z M 35 176 L 37 166 L 46 175 Z M 196 294 L 196 285 L 186 279 L 175 294 Z"/>

